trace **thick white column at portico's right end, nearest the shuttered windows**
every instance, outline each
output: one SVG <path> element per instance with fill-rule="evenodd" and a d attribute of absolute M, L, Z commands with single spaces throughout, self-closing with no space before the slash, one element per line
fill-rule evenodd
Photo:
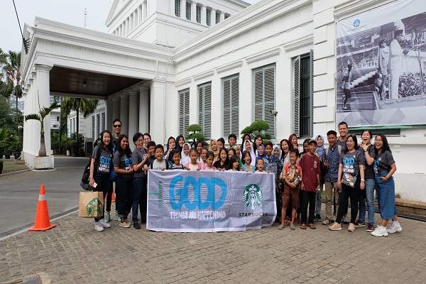
<path fill-rule="evenodd" d="M 164 144 L 164 124 L 165 119 L 165 81 L 153 80 L 151 82 L 151 116 L 155 119 L 150 119 L 149 130 L 151 138 L 157 144 Z"/>

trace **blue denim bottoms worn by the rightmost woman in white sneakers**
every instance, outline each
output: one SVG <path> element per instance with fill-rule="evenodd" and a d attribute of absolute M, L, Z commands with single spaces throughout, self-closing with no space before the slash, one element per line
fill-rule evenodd
<path fill-rule="evenodd" d="M 381 180 L 381 177 L 388 175 L 388 172 L 376 175 L 376 184 L 378 188 L 378 209 L 382 219 L 392 219 L 396 215 L 395 206 L 395 181 L 391 177 L 387 182 Z"/>

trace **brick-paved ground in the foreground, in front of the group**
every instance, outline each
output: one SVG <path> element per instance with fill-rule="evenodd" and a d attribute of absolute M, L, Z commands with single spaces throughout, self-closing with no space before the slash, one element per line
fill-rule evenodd
<path fill-rule="evenodd" d="M 425 283 L 426 223 L 375 238 L 365 229 L 226 233 L 103 232 L 71 214 L 47 232 L 0 241 L 0 283 Z M 50 281 L 50 282 L 49 282 Z M 13 282 L 15 283 L 15 282 Z"/>

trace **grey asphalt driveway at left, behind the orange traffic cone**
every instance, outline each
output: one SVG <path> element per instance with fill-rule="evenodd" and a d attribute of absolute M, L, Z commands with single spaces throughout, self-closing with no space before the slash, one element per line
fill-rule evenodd
<path fill-rule="evenodd" d="M 48 198 L 50 217 L 78 206 L 86 158 L 55 157 L 54 172 L 25 172 L 0 178 L 0 237 L 34 222 L 40 184 Z"/>

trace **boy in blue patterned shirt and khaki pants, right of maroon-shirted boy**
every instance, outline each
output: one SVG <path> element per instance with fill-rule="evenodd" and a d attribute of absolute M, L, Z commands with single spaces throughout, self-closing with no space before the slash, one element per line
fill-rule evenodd
<path fill-rule="evenodd" d="M 325 219 L 322 221 L 323 225 L 329 225 L 334 222 L 336 217 L 332 214 L 332 198 L 336 204 L 334 205 L 334 212 L 337 212 L 339 206 L 339 187 L 337 186 L 337 174 L 339 172 L 339 160 L 342 153 L 342 147 L 337 145 L 337 132 L 330 130 L 327 132 L 327 140 L 329 147 L 322 152 L 322 160 L 324 161 L 324 184 L 325 184 Z M 336 206 L 337 205 L 337 206 Z M 334 215 L 336 215 L 334 213 Z"/>

